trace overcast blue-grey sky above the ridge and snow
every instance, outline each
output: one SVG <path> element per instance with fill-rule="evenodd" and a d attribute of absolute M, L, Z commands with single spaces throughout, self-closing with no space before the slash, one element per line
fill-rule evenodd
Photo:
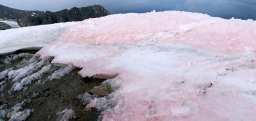
<path fill-rule="evenodd" d="M 0 0 L 0 4 L 23 10 L 58 11 L 74 6 L 104 6 L 111 14 L 152 10 L 184 10 L 215 17 L 256 20 L 256 0 Z"/>

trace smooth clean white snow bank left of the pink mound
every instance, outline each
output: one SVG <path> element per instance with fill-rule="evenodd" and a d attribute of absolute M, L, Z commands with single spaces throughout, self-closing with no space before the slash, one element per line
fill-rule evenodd
<path fill-rule="evenodd" d="M 0 54 L 19 49 L 42 48 L 57 40 L 65 30 L 78 22 L 56 23 L 0 31 Z"/>

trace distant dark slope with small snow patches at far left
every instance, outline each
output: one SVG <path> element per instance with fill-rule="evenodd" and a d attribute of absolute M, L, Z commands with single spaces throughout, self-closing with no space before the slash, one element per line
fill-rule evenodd
<path fill-rule="evenodd" d="M 19 20 L 29 16 L 42 17 L 42 15 L 44 15 L 43 11 L 18 10 L 0 4 L 0 19 Z"/>

